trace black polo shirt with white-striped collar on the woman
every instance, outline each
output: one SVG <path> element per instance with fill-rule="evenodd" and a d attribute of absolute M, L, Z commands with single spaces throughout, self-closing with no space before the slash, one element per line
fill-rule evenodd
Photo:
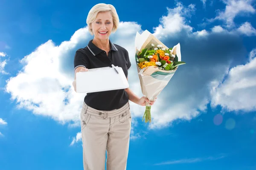
<path fill-rule="evenodd" d="M 113 44 L 111 41 L 109 43 L 111 50 L 108 56 L 104 50 L 94 45 L 92 40 L 89 41 L 85 48 L 79 48 L 74 57 L 74 69 L 80 66 L 88 69 L 112 67 L 111 64 L 113 64 L 122 67 L 125 76 L 128 77 L 128 69 L 131 67 L 128 51 L 119 45 Z M 87 81 L 90 83 L 93 79 Z M 102 84 L 104 85 L 104 82 Z M 87 93 L 84 97 L 84 102 L 92 108 L 111 111 L 125 105 L 128 102 L 128 94 L 124 89 Z"/>

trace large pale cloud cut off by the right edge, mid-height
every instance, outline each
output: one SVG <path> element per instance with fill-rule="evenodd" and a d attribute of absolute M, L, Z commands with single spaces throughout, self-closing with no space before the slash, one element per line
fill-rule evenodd
<path fill-rule="evenodd" d="M 212 82 L 211 105 L 228 111 L 255 111 L 256 48 L 250 52 L 248 63 L 231 68 L 224 77 Z"/>

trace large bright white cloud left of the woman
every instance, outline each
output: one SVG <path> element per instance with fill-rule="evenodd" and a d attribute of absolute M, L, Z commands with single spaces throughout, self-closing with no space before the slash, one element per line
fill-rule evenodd
<path fill-rule="evenodd" d="M 81 28 L 70 41 L 55 46 L 49 40 L 25 56 L 20 61 L 23 69 L 7 80 L 6 91 L 11 94 L 12 100 L 16 99 L 20 108 L 34 114 L 50 116 L 63 123 L 73 121 L 79 125 L 84 94 L 76 94 L 72 86 L 73 77 L 64 74 L 67 70 L 62 71 L 60 63 L 65 56 L 73 57 L 71 51 L 88 35 L 87 29 Z M 73 71 L 70 70 L 70 73 L 73 74 Z"/>

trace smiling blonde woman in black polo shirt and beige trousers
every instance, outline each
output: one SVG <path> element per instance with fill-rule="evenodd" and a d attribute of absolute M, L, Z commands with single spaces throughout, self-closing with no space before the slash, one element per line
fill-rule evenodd
<path fill-rule="evenodd" d="M 94 37 L 85 48 L 76 51 L 75 80 L 79 71 L 111 67 L 111 64 L 122 67 L 128 77 L 131 67 L 128 51 L 109 40 L 118 24 L 116 9 L 110 4 L 99 3 L 89 11 L 87 25 Z M 88 83 L 90 81 L 93 80 L 88 80 Z M 129 100 L 142 106 L 149 102 L 144 96 L 136 96 L 129 88 L 88 93 L 84 97 L 81 111 L 84 170 L 104 170 L 106 150 L 108 170 L 126 169 L 131 131 Z M 153 104 L 154 101 L 150 102 Z"/>

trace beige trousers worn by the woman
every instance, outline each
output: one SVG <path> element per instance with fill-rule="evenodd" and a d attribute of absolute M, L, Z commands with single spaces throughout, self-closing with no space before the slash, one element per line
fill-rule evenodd
<path fill-rule="evenodd" d="M 83 104 L 81 135 L 84 170 L 126 170 L 131 132 L 129 102 L 113 111 L 99 111 Z"/>

